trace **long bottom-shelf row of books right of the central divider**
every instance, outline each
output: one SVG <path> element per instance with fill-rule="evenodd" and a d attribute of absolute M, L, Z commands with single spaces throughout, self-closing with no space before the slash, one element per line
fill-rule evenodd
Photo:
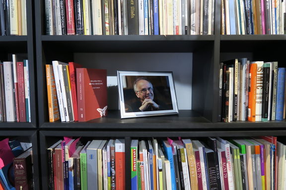
<path fill-rule="evenodd" d="M 280 190 L 285 148 L 276 137 L 132 140 L 132 190 Z"/>

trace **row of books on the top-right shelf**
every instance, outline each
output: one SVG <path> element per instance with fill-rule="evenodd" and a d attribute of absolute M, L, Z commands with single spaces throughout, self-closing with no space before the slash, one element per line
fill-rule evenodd
<path fill-rule="evenodd" d="M 221 34 L 286 34 L 283 0 L 222 0 Z"/>

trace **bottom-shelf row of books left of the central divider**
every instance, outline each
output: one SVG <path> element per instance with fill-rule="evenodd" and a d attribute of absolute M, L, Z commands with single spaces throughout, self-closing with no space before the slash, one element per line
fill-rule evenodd
<path fill-rule="evenodd" d="M 49 190 L 125 190 L 124 139 L 64 137 L 47 152 Z"/>

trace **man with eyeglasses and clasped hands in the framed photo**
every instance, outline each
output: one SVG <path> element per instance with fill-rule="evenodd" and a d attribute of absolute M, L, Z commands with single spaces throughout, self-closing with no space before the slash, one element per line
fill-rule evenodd
<path fill-rule="evenodd" d="M 134 82 L 134 92 L 140 102 L 132 106 L 133 111 L 156 111 L 160 106 L 153 100 L 154 89 L 150 81 L 138 78 Z"/>

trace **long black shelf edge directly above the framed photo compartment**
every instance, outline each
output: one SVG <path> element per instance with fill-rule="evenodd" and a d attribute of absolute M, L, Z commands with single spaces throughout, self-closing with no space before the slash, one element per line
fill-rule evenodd
<path fill-rule="evenodd" d="M 42 35 L 42 41 L 214 41 L 214 35 Z"/>

